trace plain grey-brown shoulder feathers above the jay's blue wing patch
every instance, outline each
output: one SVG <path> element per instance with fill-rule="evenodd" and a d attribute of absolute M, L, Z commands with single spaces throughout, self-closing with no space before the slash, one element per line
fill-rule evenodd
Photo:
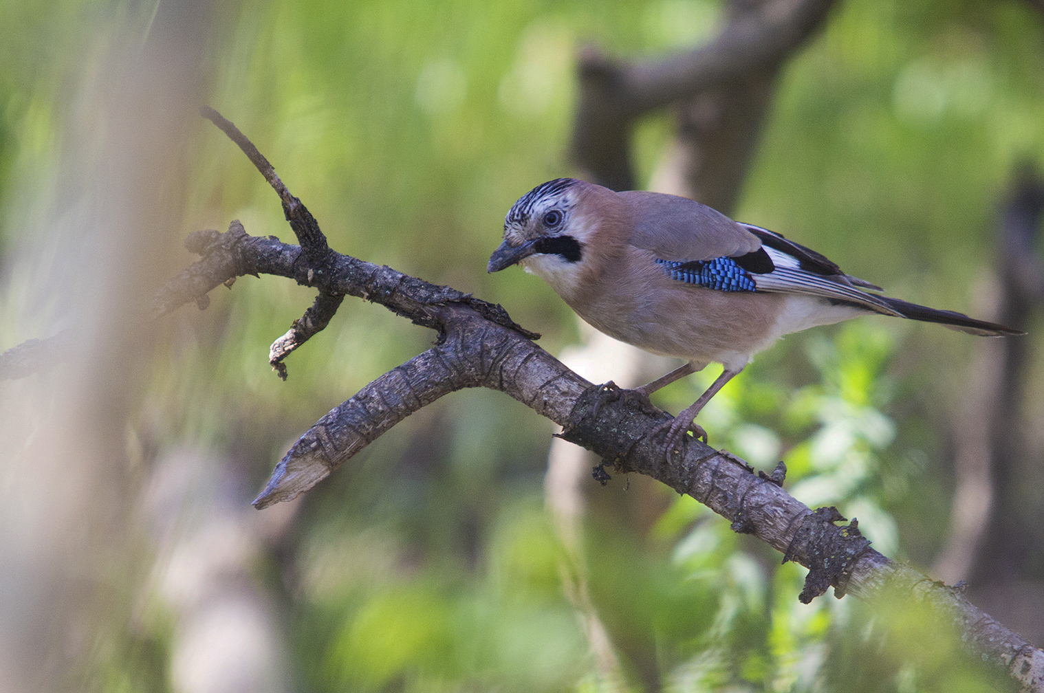
<path fill-rule="evenodd" d="M 756 235 L 706 205 L 658 192 L 618 193 L 633 215 L 628 242 L 664 260 L 713 260 L 754 253 L 761 247 Z"/>

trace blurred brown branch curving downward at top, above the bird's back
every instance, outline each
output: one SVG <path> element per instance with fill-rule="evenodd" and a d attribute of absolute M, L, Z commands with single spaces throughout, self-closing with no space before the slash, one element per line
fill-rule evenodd
<path fill-rule="evenodd" d="M 586 49 L 573 125 L 576 161 L 595 183 L 614 190 L 634 188 L 628 145 L 637 118 L 706 90 L 746 89 L 766 77 L 770 81 L 791 51 L 822 25 L 832 5 L 833 0 L 739 0 L 714 40 L 661 59 L 626 63 Z M 757 125 L 760 114 L 749 115 Z M 745 168 L 745 162 L 738 163 Z"/>

